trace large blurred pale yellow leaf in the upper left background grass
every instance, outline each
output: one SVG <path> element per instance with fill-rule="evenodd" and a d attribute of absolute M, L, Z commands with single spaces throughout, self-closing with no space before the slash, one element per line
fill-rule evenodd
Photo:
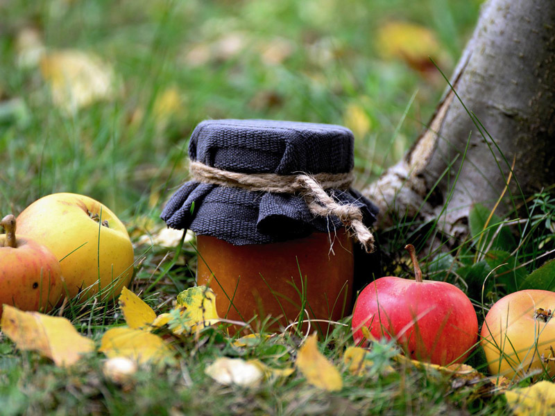
<path fill-rule="evenodd" d="M 114 95 L 114 71 L 94 55 L 74 50 L 52 52 L 42 57 L 40 70 L 50 83 L 54 104 L 67 112 Z"/>

